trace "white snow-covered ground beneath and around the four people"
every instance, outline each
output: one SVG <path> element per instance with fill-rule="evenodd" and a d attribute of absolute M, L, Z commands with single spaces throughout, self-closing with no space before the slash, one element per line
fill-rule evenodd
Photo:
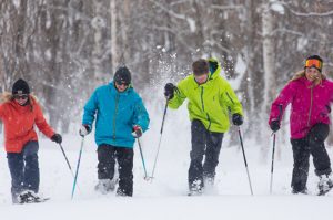
<path fill-rule="evenodd" d="M 163 106 L 162 106 L 163 107 Z M 151 109 L 154 112 L 153 109 Z M 162 109 L 151 115 L 151 129 L 141 139 L 149 174 L 152 171 L 159 142 Z M 225 138 L 229 138 L 228 136 Z M 63 147 L 71 166 L 75 169 L 81 138 L 65 135 Z M 1 146 L 3 146 L 1 137 Z M 250 196 L 242 151 L 238 147 L 221 149 L 215 188 L 202 197 L 186 197 L 186 176 L 190 151 L 190 123 L 185 108 L 169 111 L 162 145 L 152 181 L 143 179 L 138 145 L 134 156 L 134 196 L 119 198 L 94 192 L 97 184 L 97 154 L 93 135 L 84 140 L 78 185 L 71 200 L 73 178 L 59 146 L 40 135 L 40 192 L 51 197 L 46 203 L 11 205 L 10 176 L 6 153 L 0 148 L 0 216 L 1 219 L 330 219 L 333 217 L 333 192 L 325 197 L 314 196 L 316 177 L 313 167 L 309 177 L 309 189 L 313 195 L 290 193 L 292 171 L 291 149 L 284 146 L 275 160 L 273 195 L 269 192 L 270 158 L 261 159 L 260 149 L 245 142 L 245 151 L 254 196 Z M 281 147 L 278 145 L 278 147 Z M 332 157 L 333 151 L 329 149 Z"/>

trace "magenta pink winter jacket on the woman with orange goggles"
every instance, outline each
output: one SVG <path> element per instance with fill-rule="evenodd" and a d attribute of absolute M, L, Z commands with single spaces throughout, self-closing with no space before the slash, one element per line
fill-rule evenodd
<path fill-rule="evenodd" d="M 332 81 L 323 80 L 313 87 L 310 81 L 301 77 L 290 82 L 273 102 L 269 124 L 275 119 L 281 121 L 285 107 L 291 103 L 291 138 L 305 137 L 315 124 L 330 124 L 331 102 L 333 102 Z"/>

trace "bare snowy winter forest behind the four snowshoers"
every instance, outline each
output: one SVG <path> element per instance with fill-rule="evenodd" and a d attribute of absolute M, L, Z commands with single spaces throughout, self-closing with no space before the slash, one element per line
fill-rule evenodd
<path fill-rule="evenodd" d="M 0 86 L 23 77 L 50 124 L 77 133 L 84 103 L 120 65 L 162 117 L 164 84 L 214 56 L 244 106 L 245 140 L 268 151 L 271 103 L 305 57 L 321 55 L 333 77 L 332 24 L 332 0 L 1 0 Z M 287 142 L 286 116 L 282 125 Z"/>

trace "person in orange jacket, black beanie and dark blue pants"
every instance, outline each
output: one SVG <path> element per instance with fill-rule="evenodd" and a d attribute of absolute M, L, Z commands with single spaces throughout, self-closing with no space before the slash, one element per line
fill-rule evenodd
<path fill-rule="evenodd" d="M 4 148 L 11 175 L 13 203 L 38 202 L 39 163 L 38 137 L 34 125 L 51 140 L 61 144 L 62 137 L 47 123 L 36 97 L 30 95 L 26 81 L 18 80 L 12 93 L 2 95 L 0 119 L 4 125 Z"/>

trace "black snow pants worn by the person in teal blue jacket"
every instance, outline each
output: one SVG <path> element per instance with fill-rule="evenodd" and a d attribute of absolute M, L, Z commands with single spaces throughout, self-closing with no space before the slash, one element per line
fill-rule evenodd
<path fill-rule="evenodd" d="M 133 195 L 133 148 L 115 147 L 108 144 L 100 145 L 98 147 L 98 178 L 112 179 L 117 159 L 119 165 L 117 193 L 131 197 Z"/>

